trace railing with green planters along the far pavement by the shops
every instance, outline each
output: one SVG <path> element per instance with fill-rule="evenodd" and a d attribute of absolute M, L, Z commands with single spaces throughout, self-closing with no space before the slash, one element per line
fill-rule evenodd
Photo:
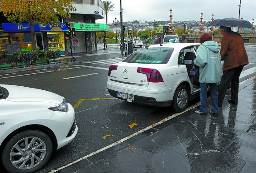
<path fill-rule="evenodd" d="M 0 70 L 61 63 L 59 50 L 0 55 Z"/>

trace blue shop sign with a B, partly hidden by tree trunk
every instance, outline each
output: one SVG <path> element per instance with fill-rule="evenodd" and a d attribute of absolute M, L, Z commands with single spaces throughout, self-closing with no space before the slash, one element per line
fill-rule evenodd
<path fill-rule="evenodd" d="M 6 31 L 30 31 L 30 25 L 28 23 L 3 23 L 3 30 Z M 40 26 L 38 24 L 34 24 L 34 31 L 40 31 Z"/>

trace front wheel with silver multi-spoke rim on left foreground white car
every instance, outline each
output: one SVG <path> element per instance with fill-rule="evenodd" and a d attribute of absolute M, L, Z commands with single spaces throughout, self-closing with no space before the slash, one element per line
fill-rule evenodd
<path fill-rule="evenodd" d="M 33 173 L 41 169 L 52 155 L 52 141 L 38 130 L 26 130 L 7 142 L 2 163 L 10 173 Z"/>

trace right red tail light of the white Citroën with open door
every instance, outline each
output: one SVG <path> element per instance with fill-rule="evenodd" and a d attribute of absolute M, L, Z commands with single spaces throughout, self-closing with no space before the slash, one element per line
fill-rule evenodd
<path fill-rule="evenodd" d="M 161 73 L 156 69 L 138 67 L 137 72 L 146 74 L 148 82 L 163 82 Z"/>

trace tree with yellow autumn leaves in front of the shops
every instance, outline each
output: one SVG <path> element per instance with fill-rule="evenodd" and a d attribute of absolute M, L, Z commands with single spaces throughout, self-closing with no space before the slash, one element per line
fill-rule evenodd
<path fill-rule="evenodd" d="M 70 11 L 76 11 L 72 2 L 73 0 L 1 0 L 0 9 L 10 22 L 28 22 L 33 50 L 36 50 L 33 24 L 58 24 L 59 16 L 67 18 L 70 17 Z"/>

